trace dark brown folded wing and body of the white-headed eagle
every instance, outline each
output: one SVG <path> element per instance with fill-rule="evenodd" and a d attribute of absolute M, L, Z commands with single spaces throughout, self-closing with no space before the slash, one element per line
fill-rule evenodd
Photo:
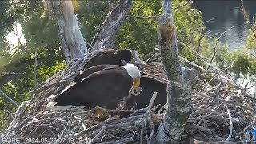
<path fill-rule="evenodd" d="M 55 106 L 106 106 L 115 109 L 132 84 L 133 79 L 124 68 L 105 67 L 63 90 L 54 99 L 57 102 Z"/>

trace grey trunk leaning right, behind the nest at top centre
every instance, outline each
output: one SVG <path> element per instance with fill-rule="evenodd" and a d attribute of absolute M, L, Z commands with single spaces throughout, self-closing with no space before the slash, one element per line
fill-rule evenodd
<path fill-rule="evenodd" d="M 114 40 L 118 34 L 118 30 L 132 6 L 133 3 L 131 0 L 119 0 L 114 9 L 112 5 L 110 5 L 110 11 L 105 21 L 102 23 L 102 27 L 94 36 L 93 42 L 91 42 L 94 50 L 102 48 L 110 49 L 114 47 Z"/>

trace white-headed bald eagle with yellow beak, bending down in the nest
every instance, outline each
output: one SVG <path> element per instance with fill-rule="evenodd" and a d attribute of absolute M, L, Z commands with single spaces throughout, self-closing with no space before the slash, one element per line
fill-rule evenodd
<path fill-rule="evenodd" d="M 125 66 L 93 66 L 84 73 L 85 78 L 62 90 L 53 102 L 48 103 L 47 108 L 66 110 L 73 106 L 102 106 L 116 109 L 118 102 L 128 96 L 130 89 L 140 85 L 140 71 L 130 63 Z"/>

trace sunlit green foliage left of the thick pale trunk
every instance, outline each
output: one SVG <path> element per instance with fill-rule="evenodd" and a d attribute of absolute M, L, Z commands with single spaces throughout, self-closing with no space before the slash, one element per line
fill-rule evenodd
<path fill-rule="evenodd" d="M 44 13 L 42 1 L 26 1 L 23 3 L 6 2 L 6 9 L 10 9 L 10 18 L 3 19 L 6 29 L 2 26 L 0 33 L 1 51 L 0 55 L 0 86 L 1 90 L 9 95 L 18 104 L 24 100 L 29 100 L 30 90 L 34 90 L 34 58 L 38 59 L 37 80 L 41 83 L 66 66 L 61 45 L 58 39 L 58 23 L 56 19 L 50 19 L 49 13 Z M 2 5 L 0 5 L 2 6 Z M 2 9 L 1 9 L 2 10 Z M 1 14 L 4 14 L 2 11 Z M 42 15 L 44 14 L 44 15 Z M 0 17 L 2 18 L 2 16 Z M 14 22 L 22 25 L 22 34 L 26 38 L 25 45 L 16 47 L 6 43 L 6 35 L 13 30 Z M 8 25 L 7 25 L 8 24 Z M 10 54 L 10 48 L 14 48 L 14 54 Z M 22 73 L 19 75 L 3 75 L 6 72 Z M 44 74 L 43 74 L 44 73 Z M 7 78 L 12 80 L 6 81 Z M 13 106 L 5 98 L 0 96 L 0 108 L 6 107 L 12 112 Z M 0 119 L 6 114 L 0 111 Z M 10 121 L 0 120 L 0 129 L 5 127 Z"/>

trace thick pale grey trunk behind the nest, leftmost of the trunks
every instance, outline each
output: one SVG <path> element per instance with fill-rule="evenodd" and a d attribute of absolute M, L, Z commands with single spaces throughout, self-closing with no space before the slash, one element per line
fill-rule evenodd
<path fill-rule="evenodd" d="M 47 3 L 52 14 L 55 14 L 58 18 L 62 49 L 66 62 L 70 65 L 76 58 L 81 58 L 88 54 L 86 42 L 82 37 L 78 20 L 74 14 L 72 1 L 50 0 Z"/>

